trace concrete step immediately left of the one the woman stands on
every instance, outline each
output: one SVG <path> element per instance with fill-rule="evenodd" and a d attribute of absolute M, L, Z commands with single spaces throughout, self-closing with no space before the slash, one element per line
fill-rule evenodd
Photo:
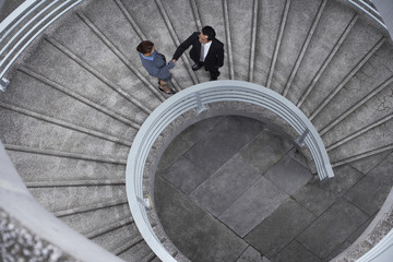
<path fill-rule="evenodd" d="M 61 49 L 62 52 L 72 56 L 81 66 L 88 64 L 94 71 L 152 108 L 155 108 L 160 100 L 164 100 L 157 88 L 148 85 L 144 78 L 135 74 L 128 67 L 127 61 L 115 53 L 115 47 L 108 46 L 100 31 L 95 32 L 80 15 L 74 14 L 68 20 L 59 25 L 51 39 L 53 45 Z"/>

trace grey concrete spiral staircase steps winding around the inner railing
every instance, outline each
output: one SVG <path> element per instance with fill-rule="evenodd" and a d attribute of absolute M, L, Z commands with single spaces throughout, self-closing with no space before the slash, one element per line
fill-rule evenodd
<path fill-rule="evenodd" d="M 138 130 L 167 98 L 135 47 L 151 39 L 170 58 L 202 25 L 225 44 L 219 79 L 291 100 L 333 167 L 393 151 L 393 45 L 347 1 L 82 1 L 9 70 L 0 139 L 46 210 L 127 261 L 159 261 L 133 223 L 124 171 Z M 176 64 L 175 90 L 209 80 L 191 62 Z"/>

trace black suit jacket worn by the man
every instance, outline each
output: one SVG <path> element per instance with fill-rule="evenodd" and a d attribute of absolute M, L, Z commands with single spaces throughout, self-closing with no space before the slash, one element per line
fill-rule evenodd
<path fill-rule="evenodd" d="M 201 57 L 201 43 L 199 41 L 200 32 L 193 33 L 187 40 L 176 49 L 174 59 L 178 60 L 179 57 L 190 47 L 190 57 L 198 63 Z M 205 70 L 216 71 L 219 67 L 224 66 L 224 44 L 214 38 L 209 49 L 207 56 L 204 61 Z"/>

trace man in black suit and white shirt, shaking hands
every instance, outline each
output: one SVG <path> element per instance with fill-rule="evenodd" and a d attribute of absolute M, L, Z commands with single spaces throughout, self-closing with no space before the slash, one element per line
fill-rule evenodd
<path fill-rule="evenodd" d="M 215 38 L 215 31 L 205 26 L 201 32 L 194 32 L 175 51 L 175 62 L 190 47 L 190 57 L 195 62 L 192 70 L 204 67 L 211 73 L 211 80 L 217 80 L 218 69 L 224 66 L 224 44 Z"/>

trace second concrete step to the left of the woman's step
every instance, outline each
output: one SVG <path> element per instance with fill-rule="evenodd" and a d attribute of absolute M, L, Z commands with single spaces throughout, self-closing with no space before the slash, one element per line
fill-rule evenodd
<path fill-rule="evenodd" d="M 90 100 L 110 108 L 121 116 L 129 116 L 130 111 L 140 111 L 140 108 L 143 108 L 145 114 L 152 110 L 148 104 L 141 104 L 135 96 L 132 96 L 132 93 L 127 93 L 118 84 L 109 81 L 88 64 L 81 64 L 82 61 L 78 60 L 78 57 L 70 58 L 67 56 L 62 52 L 67 51 L 67 49 L 61 51 L 59 49 L 61 46 L 55 46 L 55 40 L 49 41 L 47 38 L 39 44 L 37 50 L 24 63 L 28 66 L 27 68 L 31 71 L 67 87 L 73 93 L 88 97 Z M 134 100 L 138 103 L 134 103 Z M 142 120 L 146 115 L 141 117 L 136 115 L 136 120 Z"/>

